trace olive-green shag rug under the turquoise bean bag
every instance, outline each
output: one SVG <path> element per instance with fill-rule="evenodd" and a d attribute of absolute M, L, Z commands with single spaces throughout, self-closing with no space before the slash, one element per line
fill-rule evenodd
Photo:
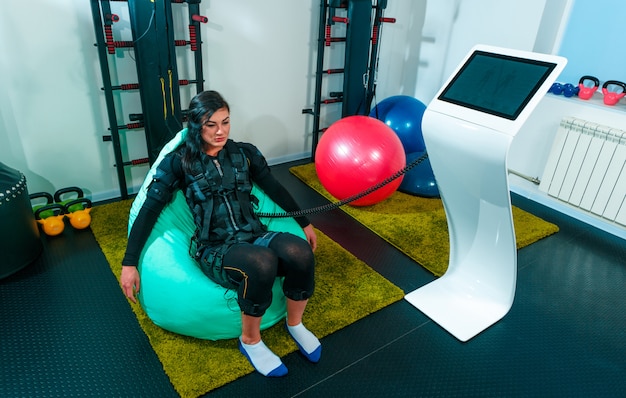
<path fill-rule="evenodd" d="M 95 206 L 91 211 L 91 230 L 118 280 L 131 203 L 125 200 Z M 318 337 L 336 332 L 404 297 L 397 286 L 322 232 L 317 234 L 316 291 L 305 318 L 307 327 Z M 239 352 L 236 339 L 209 341 L 171 333 L 152 323 L 140 305 L 130 301 L 129 304 L 181 397 L 200 396 L 253 371 Z M 263 340 L 279 356 L 297 349 L 282 322 L 264 331 Z"/>

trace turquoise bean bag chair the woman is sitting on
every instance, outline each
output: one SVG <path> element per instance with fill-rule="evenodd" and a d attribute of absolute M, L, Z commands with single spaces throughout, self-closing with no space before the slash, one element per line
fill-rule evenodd
<path fill-rule="evenodd" d="M 133 225 L 156 167 L 174 150 L 187 132 L 179 132 L 165 145 L 148 172 L 131 206 L 128 230 Z M 259 198 L 258 212 L 282 212 L 263 191 L 254 187 Z M 293 218 L 262 219 L 272 231 L 291 232 L 303 239 L 302 228 Z M 235 291 L 225 289 L 207 278 L 189 255 L 195 226 L 185 196 L 177 192 L 152 230 L 139 260 L 141 289 L 139 302 L 156 325 L 174 333 L 199 339 L 220 340 L 241 335 L 241 314 Z M 273 300 L 261 322 L 261 329 L 276 324 L 286 315 L 282 278 L 273 286 Z"/>

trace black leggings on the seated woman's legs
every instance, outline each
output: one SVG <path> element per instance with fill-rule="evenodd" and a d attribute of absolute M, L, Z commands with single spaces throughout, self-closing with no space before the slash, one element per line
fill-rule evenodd
<path fill-rule="evenodd" d="M 260 317 L 269 308 L 277 276 L 285 277 L 283 292 L 292 300 L 306 300 L 315 289 L 311 246 L 290 233 L 278 233 L 268 247 L 237 243 L 224 254 L 222 264 L 238 285 L 237 300 L 246 315 Z"/>

